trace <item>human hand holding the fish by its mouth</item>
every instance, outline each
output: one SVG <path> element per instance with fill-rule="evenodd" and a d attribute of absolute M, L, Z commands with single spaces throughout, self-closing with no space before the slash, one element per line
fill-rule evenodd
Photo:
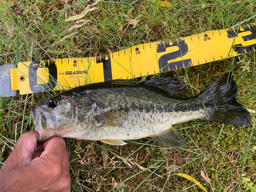
<path fill-rule="evenodd" d="M 66 142 L 53 137 L 37 145 L 39 133 L 20 136 L 0 169 L 0 191 L 70 191 Z"/>

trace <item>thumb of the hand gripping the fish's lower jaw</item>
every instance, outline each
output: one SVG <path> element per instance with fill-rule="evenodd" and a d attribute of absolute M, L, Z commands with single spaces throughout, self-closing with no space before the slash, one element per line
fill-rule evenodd
<path fill-rule="evenodd" d="M 14 147 L 13 152 L 5 161 L 3 166 L 9 168 L 19 167 L 28 164 L 33 159 L 33 154 L 37 146 L 37 131 L 26 132 L 22 134 Z"/>

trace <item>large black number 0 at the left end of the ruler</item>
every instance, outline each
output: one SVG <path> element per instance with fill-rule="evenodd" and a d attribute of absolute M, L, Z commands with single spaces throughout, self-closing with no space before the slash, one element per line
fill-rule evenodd
<path fill-rule="evenodd" d="M 37 69 L 44 68 L 40 61 L 32 61 L 29 65 L 29 87 L 33 93 L 54 89 L 57 82 L 57 67 L 53 60 L 44 60 L 49 71 L 48 83 L 37 82 Z"/>

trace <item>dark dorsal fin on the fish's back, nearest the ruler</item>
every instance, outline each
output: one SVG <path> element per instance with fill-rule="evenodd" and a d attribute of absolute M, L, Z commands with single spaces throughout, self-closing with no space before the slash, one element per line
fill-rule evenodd
<path fill-rule="evenodd" d="M 187 85 L 179 79 L 173 77 L 156 78 L 145 81 L 146 86 L 167 91 L 170 95 L 178 94 L 187 88 Z"/>

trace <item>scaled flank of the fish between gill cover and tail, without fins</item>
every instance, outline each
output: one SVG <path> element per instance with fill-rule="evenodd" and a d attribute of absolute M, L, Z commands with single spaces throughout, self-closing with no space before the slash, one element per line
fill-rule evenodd
<path fill-rule="evenodd" d="M 129 140 L 150 137 L 168 130 L 173 124 L 198 117 L 204 118 L 204 113 L 210 110 L 205 107 L 204 100 L 175 100 L 144 88 L 108 88 L 87 94 L 98 103 L 96 115 L 114 109 L 124 109 L 122 113 L 125 113 L 125 118 L 119 126 L 92 125 L 90 132 L 79 139 Z"/>

